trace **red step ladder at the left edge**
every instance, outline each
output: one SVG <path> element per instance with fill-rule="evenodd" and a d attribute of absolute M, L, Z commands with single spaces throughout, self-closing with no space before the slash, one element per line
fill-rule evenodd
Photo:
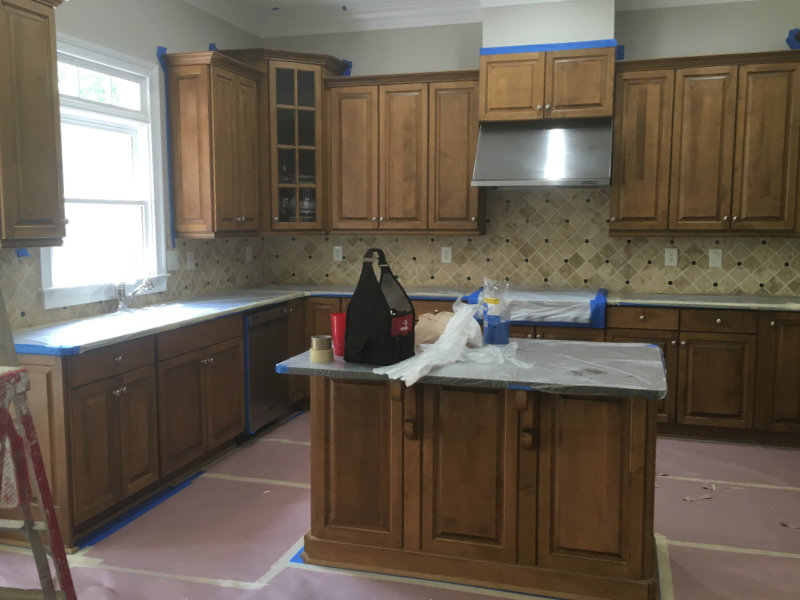
<path fill-rule="evenodd" d="M 42 452 L 28 408 L 28 374 L 19 367 L 0 367 L 0 510 L 14 511 L 19 519 L 0 519 L 0 530 L 25 536 L 33 551 L 41 590 L 0 587 L 0 600 L 77 600 L 69 572 L 61 530 L 44 470 Z M 37 501 L 44 521 L 34 519 Z M 48 552 L 41 534 L 47 533 L 57 575 L 50 572 Z M 56 583 L 60 589 L 56 589 Z"/>

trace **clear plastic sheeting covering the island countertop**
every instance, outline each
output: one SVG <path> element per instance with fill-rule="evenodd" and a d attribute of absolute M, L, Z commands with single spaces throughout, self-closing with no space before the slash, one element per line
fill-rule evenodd
<path fill-rule="evenodd" d="M 661 350 L 651 344 L 529 340 L 517 342 L 516 360 L 531 364 L 461 362 L 436 367 L 420 383 L 539 390 L 592 396 L 664 398 L 667 381 Z M 374 367 L 344 362 L 312 363 L 304 352 L 275 367 L 278 373 L 342 379 L 387 380 Z"/>

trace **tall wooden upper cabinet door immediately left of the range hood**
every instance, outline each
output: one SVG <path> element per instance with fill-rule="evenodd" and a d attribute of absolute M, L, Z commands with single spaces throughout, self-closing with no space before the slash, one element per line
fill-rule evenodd
<path fill-rule="evenodd" d="M 475 230 L 483 219 L 472 169 L 478 147 L 478 82 L 431 83 L 428 228 Z"/>

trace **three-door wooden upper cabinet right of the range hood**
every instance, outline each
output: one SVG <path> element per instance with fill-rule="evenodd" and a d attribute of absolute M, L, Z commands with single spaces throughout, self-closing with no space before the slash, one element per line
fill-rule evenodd
<path fill-rule="evenodd" d="M 800 229 L 795 53 L 631 61 L 617 69 L 612 234 Z"/>

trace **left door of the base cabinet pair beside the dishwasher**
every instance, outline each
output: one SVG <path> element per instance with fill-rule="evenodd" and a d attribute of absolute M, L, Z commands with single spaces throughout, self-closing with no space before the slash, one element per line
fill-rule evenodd
<path fill-rule="evenodd" d="M 206 451 L 203 350 L 158 363 L 158 441 L 162 476 Z"/>

